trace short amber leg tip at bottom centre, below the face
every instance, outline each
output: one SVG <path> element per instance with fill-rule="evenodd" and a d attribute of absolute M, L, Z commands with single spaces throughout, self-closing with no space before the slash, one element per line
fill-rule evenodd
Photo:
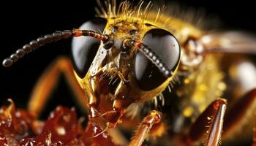
<path fill-rule="evenodd" d="M 132 137 L 132 141 L 130 142 L 130 146 L 132 145 L 142 145 L 149 132 L 154 126 L 157 126 L 161 123 L 162 114 L 156 110 L 151 111 L 146 118 L 143 119 L 142 123 L 137 129 L 137 132 L 134 137 Z"/>

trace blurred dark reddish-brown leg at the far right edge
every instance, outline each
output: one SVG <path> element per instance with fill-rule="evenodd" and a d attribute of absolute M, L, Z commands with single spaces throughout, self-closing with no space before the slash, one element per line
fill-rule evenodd
<path fill-rule="evenodd" d="M 245 122 L 244 119 L 249 120 L 249 115 L 255 117 L 255 106 L 256 106 L 256 88 L 249 91 L 239 99 L 236 104 L 233 105 L 229 110 L 227 110 L 227 115 L 225 116 L 225 123 L 223 126 L 223 138 L 232 137 Z M 253 118 L 253 117 L 252 117 Z M 255 124 L 255 123 L 253 123 Z"/>

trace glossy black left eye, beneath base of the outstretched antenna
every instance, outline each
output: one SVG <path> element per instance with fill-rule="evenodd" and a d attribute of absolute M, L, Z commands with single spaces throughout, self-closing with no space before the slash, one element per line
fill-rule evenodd
<path fill-rule="evenodd" d="M 103 32 L 106 23 L 107 20 L 97 18 L 83 23 L 80 29 Z M 99 49 L 99 45 L 100 40 L 91 37 L 75 37 L 72 40 L 72 62 L 79 77 L 85 77 Z"/>

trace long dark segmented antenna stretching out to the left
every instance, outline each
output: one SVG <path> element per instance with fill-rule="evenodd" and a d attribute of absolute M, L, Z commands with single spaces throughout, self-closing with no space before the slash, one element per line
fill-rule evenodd
<path fill-rule="evenodd" d="M 69 37 L 94 37 L 95 39 L 102 40 L 102 42 L 108 42 L 108 36 L 99 34 L 95 31 L 90 30 L 79 30 L 74 29 L 72 31 L 65 30 L 65 31 L 56 31 L 53 34 L 47 34 L 44 37 L 39 37 L 36 40 L 29 42 L 29 44 L 24 45 L 22 48 L 16 50 L 15 53 L 10 55 L 9 58 L 5 58 L 2 62 L 4 67 L 12 66 L 13 63 L 17 62 L 19 58 L 23 58 L 24 55 L 30 53 L 31 51 L 41 47 L 45 44 L 56 42 L 61 39 L 67 39 Z"/>

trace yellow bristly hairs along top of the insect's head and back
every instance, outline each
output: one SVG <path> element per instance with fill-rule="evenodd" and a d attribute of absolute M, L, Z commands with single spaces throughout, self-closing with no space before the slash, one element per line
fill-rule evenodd
<path fill-rule="evenodd" d="M 213 30 L 221 25 L 216 15 L 206 15 L 203 8 L 193 9 L 176 2 L 166 2 L 160 7 L 157 2 L 140 0 L 135 4 L 134 1 L 125 0 L 118 5 L 116 0 L 97 0 L 98 7 L 95 7 L 95 10 L 100 18 L 139 19 L 164 29 L 173 29 L 173 18 L 184 20 L 203 31 Z"/>

